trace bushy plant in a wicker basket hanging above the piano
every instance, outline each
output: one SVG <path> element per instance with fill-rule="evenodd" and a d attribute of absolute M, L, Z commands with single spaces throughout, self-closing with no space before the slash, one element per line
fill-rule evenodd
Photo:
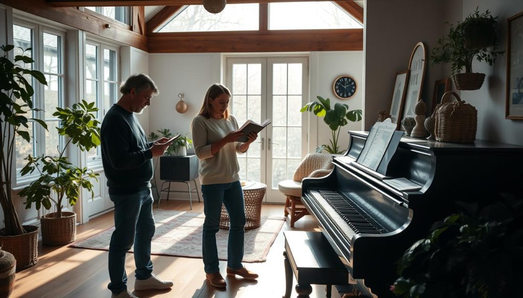
<path fill-rule="evenodd" d="M 492 39 L 492 49 L 487 47 L 477 47 L 479 41 L 470 41 L 474 39 L 474 34 L 470 33 L 474 30 L 482 30 L 476 28 L 479 20 L 487 20 L 493 28 L 497 26 L 496 18 L 490 15 L 490 11 L 486 11 L 483 14 L 479 14 L 479 11 L 469 15 L 463 22 L 458 21 L 458 25 L 454 27 L 450 24 L 449 33 L 438 40 L 438 46 L 434 47 L 430 59 L 432 64 L 450 63 L 452 70 L 452 82 L 454 87 L 458 90 L 477 90 L 480 89 L 485 80 L 485 74 L 472 73 L 472 61 L 474 58 L 477 61 L 485 61 L 488 65 L 492 66 L 496 62 L 497 55 L 501 55 L 504 51 L 497 50 L 497 37 L 488 37 Z M 467 35 L 469 38 L 465 42 L 465 28 L 467 28 Z M 474 30 L 472 29 L 474 28 Z M 480 33 L 481 35 L 481 33 Z M 474 47 L 467 47 L 465 44 L 473 44 Z M 464 73 L 461 71 L 465 69 Z"/>

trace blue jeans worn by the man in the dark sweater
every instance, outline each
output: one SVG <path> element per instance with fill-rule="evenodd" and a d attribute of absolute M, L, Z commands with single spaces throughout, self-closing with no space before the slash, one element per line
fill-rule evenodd
<path fill-rule="evenodd" d="M 134 243 L 135 276 L 147 279 L 153 272 L 151 239 L 155 227 L 151 189 L 130 195 L 109 195 L 115 203 L 115 231 L 109 244 L 108 285 L 113 293 L 127 290 L 126 253 Z"/>

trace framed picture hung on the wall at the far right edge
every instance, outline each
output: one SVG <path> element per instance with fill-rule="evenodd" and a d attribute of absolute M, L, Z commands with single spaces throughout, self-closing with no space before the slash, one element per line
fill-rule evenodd
<path fill-rule="evenodd" d="M 523 11 L 508 18 L 505 118 L 523 120 Z"/>

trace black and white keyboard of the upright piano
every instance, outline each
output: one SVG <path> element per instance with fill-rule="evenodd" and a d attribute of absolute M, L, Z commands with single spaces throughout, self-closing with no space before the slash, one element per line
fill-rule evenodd
<path fill-rule="evenodd" d="M 381 234 L 385 230 L 367 214 L 360 212 L 350 200 L 333 190 L 310 190 L 309 193 L 322 206 L 323 210 L 338 225 L 348 239 L 359 233 Z"/>

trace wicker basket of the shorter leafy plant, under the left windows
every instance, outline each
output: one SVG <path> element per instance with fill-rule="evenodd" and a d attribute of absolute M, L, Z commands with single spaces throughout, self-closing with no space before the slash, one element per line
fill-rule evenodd
<path fill-rule="evenodd" d="M 45 245 L 64 245 L 76 240 L 76 213 L 62 212 L 57 218 L 56 212 L 42 215 L 42 243 Z"/>

